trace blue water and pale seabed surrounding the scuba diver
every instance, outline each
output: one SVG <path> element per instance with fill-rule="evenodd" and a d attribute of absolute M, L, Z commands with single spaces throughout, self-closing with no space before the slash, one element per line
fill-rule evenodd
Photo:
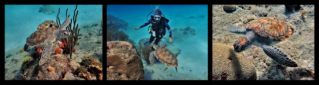
<path fill-rule="evenodd" d="M 174 67 L 162 72 L 166 65 L 160 69 L 160 73 L 153 73 L 152 75 L 163 75 L 165 80 L 207 80 L 208 67 L 208 13 L 207 5 L 107 5 L 107 14 L 120 18 L 128 22 L 127 30 L 120 29 L 129 35 L 129 38 L 138 43 L 143 38 L 150 38 L 147 33 L 148 26 L 135 30 L 135 27 L 140 27 L 147 22 L 147 15 L 154 9 L 159 8 L 163 15 L 169 19 L 169 26 L 174 28 L 191 27 L 196 30 L 196 36 L 190 37 L 183 42 L 173 42 L 174 47 L 181 49 L 178 55 L 178 73 L 186 75 L 174 75 L 176 73 Z M 154 15 L 151 13 L 148 17 Z M 197 16 L 205 16 L 204 18 L 197 18 Z M 195 18 L 189 18 L 194 16 Z M 166 31 L 164 38 L 168 39 L 168 31 Z M 172 32 L 172 35 L 174 33 Z M 166 40 L 167 41 L 167 40 Z M 173 40 L 174 41 L 174 40 Z M 184 68 L 181 69 L 181 67 Z M 191 71 L 190 71 L 191 70 Z M 171 71 L 171 72 L 170 72 Z M 205 76 L 198 76 L 203 75 Z M 157 80 L 153 76 L 145 75 L 146 80 Z M 172 75 L 172 76 L 166 76 Z M 189 76 L 187 76 L 189 75 Z M 176 76 L 176 77 L 174 77 Z M 187 78 L 185 78 L 187 77 Z M 194 79 L 189 79 L 194 78 Z M 160 78 L 159 78 L 160 79 Z"/>

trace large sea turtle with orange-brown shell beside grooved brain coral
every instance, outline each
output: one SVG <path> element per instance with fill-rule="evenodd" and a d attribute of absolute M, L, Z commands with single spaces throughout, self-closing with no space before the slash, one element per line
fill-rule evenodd
<path fill-rule="evenodd" d="M 248 49 L 251 45 L 262 46 L 264 52 L 279 64 L 288 67 L 298 67 L 274 44 L 288 39 L 292 34 L 291 25 L 286 21 L 275 17 L 263 17 L 252 20 L 245 24 L 245 28 L 228 26 L 228 31 L 233 33 L 245 34 L 234 43 L 234 51 L 241 52 Z"/>

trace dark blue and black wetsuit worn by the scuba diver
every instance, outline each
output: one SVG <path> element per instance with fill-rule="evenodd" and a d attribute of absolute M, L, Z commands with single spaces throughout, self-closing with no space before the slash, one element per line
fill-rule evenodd
<path fill-rule="evenodd" d="M 140 28 L 143 28 L 149 24 L 152 23 L 152 30 L 155 32 L 156 36 L 152 36 L 151 35 L 151 38 L 150 38 L 150 43 L 154 41 L 154 39 L 156 38 L 155 40 L 155 44 L 158 44 L 160 42 L 160 40 L 163 38 L 163 36 L 166 34 L 166 30 L 165 30 L 165 27 L 167 28 L 168 30 L 168 33 L 169 33 L 169 38 L 171 38 L 171 30 L 170 30 L 170 27 L 169 25 L 167 24 L 168 23 L 168 19 L 166 19 L 165 17 L 161 17 L 160 18 L 160 21 L 156 21 L 153 19 L 154 16 L 151 16 L 151 19 L 146 22 L 145 24 L 143 24 L 142 26 L 140 26 Z"/>

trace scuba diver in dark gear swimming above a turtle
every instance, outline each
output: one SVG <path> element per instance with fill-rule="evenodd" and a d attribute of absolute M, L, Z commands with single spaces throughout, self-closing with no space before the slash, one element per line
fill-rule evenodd
<path fill-rule="evenodd" d="M 153 12 L 153 11 L 152 11 Z M 152 13 L 151 12 L 151 13 Z M 150 14 L 151 14 L 150 13 Z M 150 15 L 149 14 L 149 15 Z M 148 15 L 148 16 L 149 16 Z M 161 16 L 163 15 L 160 11 L 160 9 L 157 9 L 154 13 L 154 16 L 151 15 L 151 19 L 148 20 L 148 22 L 146 22 L 145 24 L 143 24 L 142 26 L 140 27 L 136 27 L 135 30 L 138 30 L 140 28 L 143 28 L 149 24 L 151 24 L 151 30 L 149 30 L 149 34 L 151 34 L 151 38 L 148 42 L 145 42 L 144 45 L 146 44 L 150 44 L 154 41 L 154 39 L 156 38 L 155 42 L 153 43 L 154 45 L 158 45 L 158 43 L 160 42 L 160 40 L 163 38 L 163 36 L 166 34 L 166 30 L 165 30 L 165 27 L 167 28 L 168 30 L 168 33 L 169 33 L 169 42 L 172 42 L 173 40 L 171 39 L 172 35 L 171 35 L 171 30 L 170 30 L 170 27 L 168 26 L 168 19 L 165 18 L 165 16 L 163 15 L 163 17 Z M 150 28 L 149 27 L 149 28 Z M 152 46 L 152 49 L 153 46 Z"/>

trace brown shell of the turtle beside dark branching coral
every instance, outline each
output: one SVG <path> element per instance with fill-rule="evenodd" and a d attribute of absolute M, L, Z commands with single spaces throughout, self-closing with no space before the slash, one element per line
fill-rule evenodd
<path fill-rule="evenodd" d="M 28 38 L 26 38 L 26 44 L 30 46 L 37 46 L 42 42 L 53 36 L 56 28 L 42 28 L 33 32 Z"/>

